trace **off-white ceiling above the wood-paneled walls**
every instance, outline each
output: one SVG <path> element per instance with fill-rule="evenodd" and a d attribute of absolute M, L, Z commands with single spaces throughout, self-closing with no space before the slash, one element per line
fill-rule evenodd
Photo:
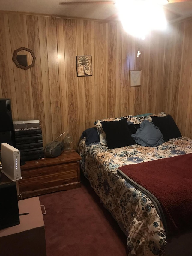
<path fill-rule="evenodd" d="M 94 20 L 118 20 L 117 9 L 114 5 L 115 1 L 0 0 L 0 2 L 1 11 L 45 14 L 55 17 L 64 16 Z M 192 16 L 192 1 L 170 0 L 170 3 L 165 5 L 164 10 L 168 21 L 175 22 L 182 20 Z"/>

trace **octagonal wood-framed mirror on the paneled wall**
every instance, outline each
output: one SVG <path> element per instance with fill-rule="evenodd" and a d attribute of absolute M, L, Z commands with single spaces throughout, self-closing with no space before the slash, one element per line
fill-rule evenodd
<path fill-rule="evenodd" d="M 35 64 L 35 55 L 32 50 L 26 47 L 20 47 L 13 52 L 13 61 L 18 68 L 28 69 Z"/>

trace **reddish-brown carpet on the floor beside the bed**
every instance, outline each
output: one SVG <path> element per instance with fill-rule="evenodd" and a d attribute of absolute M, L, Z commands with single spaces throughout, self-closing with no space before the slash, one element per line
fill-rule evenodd
<path fill-rule="evenodd" d="M 126 256 L 127 239 L 82 177 L 81 188 L 39 196 L 47 256 Z"/>

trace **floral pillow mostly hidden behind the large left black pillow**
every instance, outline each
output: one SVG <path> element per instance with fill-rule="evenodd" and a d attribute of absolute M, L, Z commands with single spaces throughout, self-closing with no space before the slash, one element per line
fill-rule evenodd
<path fill-rule="evenodd" d="M 106 138 L 106 134 L 103 130 L 101 122 L 104 122 L 104 121 L 107 121 L 107 122 L 109 122 L 109 121 L 119 121 L 119 120 L 121 120 L 125 117 L 127 118 L 128 121 L 131 121 L 131 118 L 133 116 L 122 116 L 122 117 L 106 118 L 106 119 L 96 120 L 94 122 L 95 126 L 97 127 L 97 131 L 98 131 L 98 134 L 99 134 L 99 137 L 100 137 L 101 145 L 107 146 L 107 138 Z"/>

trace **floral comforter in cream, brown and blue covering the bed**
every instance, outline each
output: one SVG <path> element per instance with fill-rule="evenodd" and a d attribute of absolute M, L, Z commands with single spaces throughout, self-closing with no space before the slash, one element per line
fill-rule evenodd
<path fill-rule="evenodd" d="M 108 149 L 100 143 L 79 143 L 81 169 L 92 188 L 127 233 L 132 255 L 164 255 L 166 233 L 153 202 L 117 173 L 117 168 L 192 153 L 192 140 L 181 137 L 157 147 L 137 144 Z"/>

